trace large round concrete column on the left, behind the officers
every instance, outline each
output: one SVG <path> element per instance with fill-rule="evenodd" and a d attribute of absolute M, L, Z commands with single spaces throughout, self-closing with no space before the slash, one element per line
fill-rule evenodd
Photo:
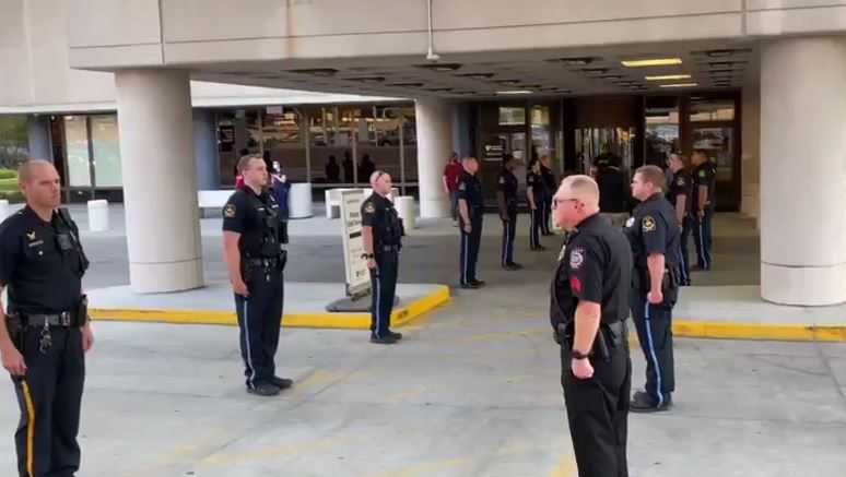
<path fill-rule="evenodd" d="M 132 290 L 201 287 L 188 73 L 119 70 L 115 84 Z"/>

